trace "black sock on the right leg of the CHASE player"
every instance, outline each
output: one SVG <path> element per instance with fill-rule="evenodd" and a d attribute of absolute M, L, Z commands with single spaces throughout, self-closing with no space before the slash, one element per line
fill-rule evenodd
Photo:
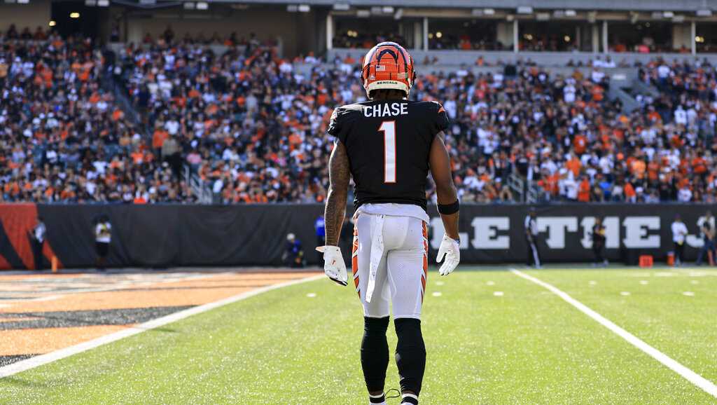
<path fill-rule="evenodd" d="M 421 321 L 413 318 L 394 320 L 396 335 L 396 365 L 399 368 L 401 392 L 421 392 L 423 373 L 426 369 L 426 346 L 421 333 Z"/>

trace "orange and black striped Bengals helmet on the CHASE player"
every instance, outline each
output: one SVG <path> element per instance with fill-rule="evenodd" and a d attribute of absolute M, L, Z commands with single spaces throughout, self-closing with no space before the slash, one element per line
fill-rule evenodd
<path fill-rule="evenodd" d="M 396 42 L 381 42 L 372 47 L 364 56 L 361 80 L 366 95 L 379 88 L 393 88 L 406 93 L 408 97 L 416 80 L 413 57 Z"/>

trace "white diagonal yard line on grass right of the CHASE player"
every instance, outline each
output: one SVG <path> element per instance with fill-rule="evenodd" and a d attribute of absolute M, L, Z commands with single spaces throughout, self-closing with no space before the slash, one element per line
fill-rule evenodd
<path fill-rule="evenodd" d="M 540 279 L 536 279 L 533 276 L 525 274 L 523 273 L 523 271 L 511 269 L 511 272 L 513 274 L 516 274 L 516 276 L 520 276 L 523 277 L 523 279 L 533 281 L 533 283 L 538 284 L 545 289 L 548 289 L 553 294 L 556 294 L 558 297 L 564 299 L 564 301 L 568 304 L 571 304 L 573 307 L 579 309 L 580 312 L 583 312 L 585 315 L 597 321 L 600 325 L 607 327 L 607 329 L 611 330 L 619 337 L 622 337 L 623 339 L 627 340 L 627 342 L 629 342 L 631 345 L 642 350 L 647 355 L 650 355 L 650 357 L 654 358 L 660 363 L 663 363 L 664 366 L 670 368 L 670 370 L 674 371 L 675 373 L 678 373 L 680 376 L 683 376 L 683 378 L 685 378 L 687 381 L 690 381 L 690 383 L 695 384 L 695 386 L 698 386 L 707 394 L 710 394 L 711 396 L 717 398 L 717 386 L 712 381 L 709 381 L 703 376 L 700 376 L 698 373 L 695 373 L 689 368 L 683 366 L 682 364 L 678 363 L 677 360 L 674 360 L 660 350 L 653 348 L 652 346 L 645 343 L 644 340 L 641 340 L 639 337 L 632 335 L 632 333 L 630 332 L 627 332 L 627 330 L 622 329 L 622 327 L 615 325 L 606 317 L 603 317 L 602 315 L 598 314 L 594 310 L 587 307 L 587 305 L 583 304 L 582 302 L 579 302 L 577 299 L 570 297 L 568 294 L 561 291 L 557 287 L 548 284 Z"/>

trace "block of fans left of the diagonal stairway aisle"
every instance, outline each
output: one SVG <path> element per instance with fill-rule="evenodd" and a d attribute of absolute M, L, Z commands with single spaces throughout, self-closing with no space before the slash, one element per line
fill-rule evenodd
<path fill-rule="evenodd" d="M 192 199 L 103 90 L 100 47 L 41 29 L 14 37 L 0 42 L 0 200 Z"/>

